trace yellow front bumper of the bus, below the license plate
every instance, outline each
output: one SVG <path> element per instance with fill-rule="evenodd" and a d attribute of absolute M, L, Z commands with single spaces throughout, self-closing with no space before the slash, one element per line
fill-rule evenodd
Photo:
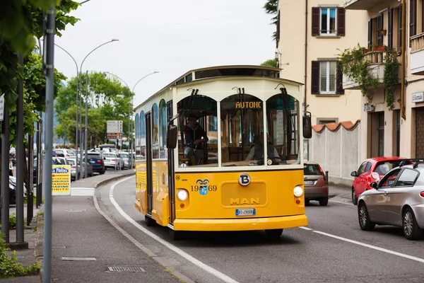
<path fill-rule="evenodd" d="M 175 219 L 175 231 L 253 231 L 307 226 L 307 216 L 244 219 Z"/>

